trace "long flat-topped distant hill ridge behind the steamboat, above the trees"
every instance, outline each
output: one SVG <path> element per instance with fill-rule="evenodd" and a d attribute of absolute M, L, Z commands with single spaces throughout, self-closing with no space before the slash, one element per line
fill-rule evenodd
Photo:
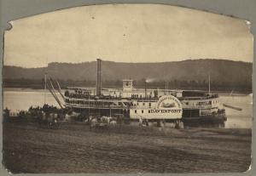
<path fill-rule="evenodd" d="M 42 80 L 44 71 L 48 77 L 67 81 L 96 80 L 96 61 L 79 64 L 49 63 L 44 68 L 22 68 L 3 66 L 3 80 Z M 231 60 L 184 60 L 161 63 L 121 63 L 102 61 L 102 81 L 114 82 L 125 78 L 139 81 L 230 82 L 252 85 L 253 64 Z"/>

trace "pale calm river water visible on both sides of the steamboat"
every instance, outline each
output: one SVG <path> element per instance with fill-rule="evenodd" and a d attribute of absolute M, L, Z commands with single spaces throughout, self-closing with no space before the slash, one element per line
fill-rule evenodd
<path fill-rule="evenodd" d="M 219 94 L 220 105 L 227 104 L 242 108 L 236 111 L 225 108 L 228 121 L 225 128 L 251 128 L 253 119 L 253 96 L 248 94 Z M 61 96 L 59 95 L 61 99 Z M 11 111 L 28 110 L 31 105 L 42 106 L 45 103 L 58 106 L 49 91 L 30 88 L 5 88 L 3 91 L 3 108 Z"/>

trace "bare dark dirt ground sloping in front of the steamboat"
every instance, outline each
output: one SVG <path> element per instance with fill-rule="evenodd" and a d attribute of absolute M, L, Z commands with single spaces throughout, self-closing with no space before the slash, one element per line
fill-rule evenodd
<path fill-rule="evenodd" d="M 11 173 L 234 173 L 250 163 L 251 129 L 3 124 L 3 164 Z"/>

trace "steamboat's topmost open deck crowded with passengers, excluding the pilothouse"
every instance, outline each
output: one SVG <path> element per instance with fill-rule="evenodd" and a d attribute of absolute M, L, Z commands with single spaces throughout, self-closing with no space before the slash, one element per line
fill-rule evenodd
<path fill-rule="evenodd" d="M 157 100 L 163 95 L 172 95 L 180 100 L 217 99 L 218 94 L 203 91 L 172 90 L 172 89 L 143 89 L 133 88 L 124 91 L 120 88 L 104 88 L 101 95 L 95 94 L 94 88 L 70 88 L 65 92 L 68 99 L 137 99 L 138 101 Z"/>

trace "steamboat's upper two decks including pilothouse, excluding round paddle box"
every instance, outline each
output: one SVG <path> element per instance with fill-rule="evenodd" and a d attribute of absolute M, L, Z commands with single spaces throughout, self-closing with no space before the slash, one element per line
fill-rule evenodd
<path fill-rule="evenodd" d="M 102 88 L 96 95 L 95 88 L 68 88 L 65 92 L 67 106 L 83 108 L 154 108 L 160 97 L 172 95 L 184 109 L 218 108 L 218 94 L 204 91 L 133 88 L 131 79 L 124 80 L 123 88 Z"/>

